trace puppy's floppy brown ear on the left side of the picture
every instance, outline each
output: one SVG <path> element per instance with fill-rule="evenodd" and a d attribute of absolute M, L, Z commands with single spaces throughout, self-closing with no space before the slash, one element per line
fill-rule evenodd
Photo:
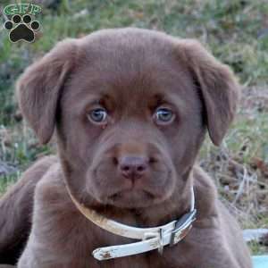
<path fill-rule="evenodd" d="M 60 42 L 37 63 L 30 65 L 16 85 L 23 116 L 41 143 L 52 137 L 61 90 L 76 56 L 75 39 Z"/>

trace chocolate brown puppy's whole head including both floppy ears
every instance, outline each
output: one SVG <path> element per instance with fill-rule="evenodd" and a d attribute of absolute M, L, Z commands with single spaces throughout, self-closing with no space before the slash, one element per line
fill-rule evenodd
<path fill-rule="evenodd" d="M 57 130 L 73 193 L 126 208 L 180 197 L 205 129 L 219 145 L 239 96 L 229 68 L 197 41 L 144 29 L 63 41 L 17 88 L 40 141 Z"/>

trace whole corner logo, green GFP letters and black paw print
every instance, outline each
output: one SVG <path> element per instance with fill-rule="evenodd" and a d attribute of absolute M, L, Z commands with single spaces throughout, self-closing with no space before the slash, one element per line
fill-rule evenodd
<path fill-rule="evenodd" d="M 41 13 L 41 7 L 37 4 L 9 4 L 4 7 L 4 14 L 12 16 L 10 21 L 4 22 L 4 29 L 9 31 L 11 42 L 35 41 L 35 35 L 40 29 L 39 21 L 34 20 L 38 13 Z"/>

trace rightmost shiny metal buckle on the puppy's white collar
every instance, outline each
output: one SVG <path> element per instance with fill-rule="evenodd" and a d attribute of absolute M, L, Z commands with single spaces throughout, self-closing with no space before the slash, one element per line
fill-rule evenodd
<path fill-rule="evenodd" d="M 175 223 L 175 227 L 172 230 L 172 237 L 170 242 L 170 247 L 177 244 L 181 239 L 185 238 L 188 234 L 188 231 L 192 228 L 192 222 L 196 221 L 197 210 L 194 209 L 192 212 L 188 214 L 184 214 L 179 221 Z M 176 234 L 180 232 L 181 237 L 177 241 L 175 241 Z"/>

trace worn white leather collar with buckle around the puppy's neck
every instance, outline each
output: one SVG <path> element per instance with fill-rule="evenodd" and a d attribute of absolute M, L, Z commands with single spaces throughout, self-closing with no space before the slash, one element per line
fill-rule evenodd
<path fill-rule="evenodd" d="M 192 228 L 192 222 L 196 220 L 197 210 L 195 209 L 195 193 L 193 188 L 191 188 L 189 212 L 182 215 L 178 220 L 153 228 L 137 228 L 107 219 L 105 216 L 97 214 L 95 210 L 81 204 L 72 196 L 70 188 L 67 187 L 67 190 L 74 205 L 89 221 L 118 236 L 141 240 L 125 245 L 98 247 L 92 252 L 92 255 L 99 261 L 136 255 L 154 249 L 158 249 L 159 253 L 162 254 L 164 246 L 176 245 L 180 240 L 184 239 Z"/>

